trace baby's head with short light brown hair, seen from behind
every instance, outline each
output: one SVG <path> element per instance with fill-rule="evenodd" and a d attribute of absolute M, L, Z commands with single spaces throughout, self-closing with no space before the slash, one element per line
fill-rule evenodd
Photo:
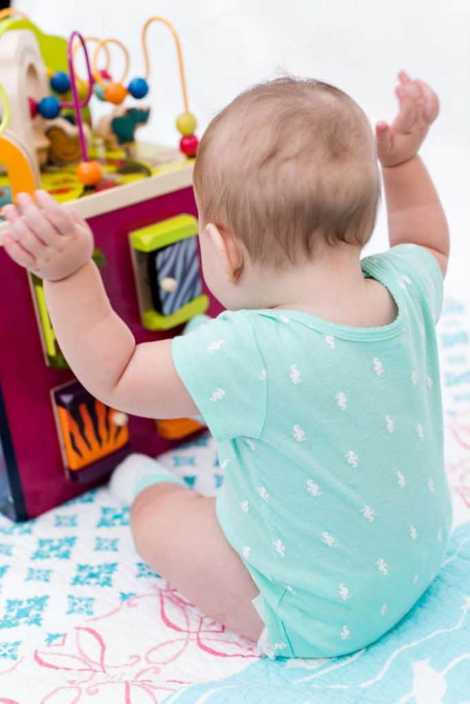
<path fill-rule="evenodd" d="M 211 121 L 194 165 L 206 282 L 250 307 L 252 272 L 280 272 L 371 237 L 380 196 L 369 121 L 350 96 L 281 78 L 237 96 Z"/>

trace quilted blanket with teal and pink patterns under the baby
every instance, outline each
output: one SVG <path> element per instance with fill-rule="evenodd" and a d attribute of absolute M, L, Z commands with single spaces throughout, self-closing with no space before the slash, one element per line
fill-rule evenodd
<path fill-rule="evenodd" d="M 0 518 L 1 704 L 470 704 L 470 315 L 440 322 L 454 533 L 415 608 L 333 660 L 260 658 L 149 570 L 106 488 L 26 524 Z M 162 461 L 206 495 L 210 436 Z"/>

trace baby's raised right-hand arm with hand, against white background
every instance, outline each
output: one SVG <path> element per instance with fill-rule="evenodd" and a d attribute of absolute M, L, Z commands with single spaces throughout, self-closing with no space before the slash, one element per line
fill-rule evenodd
<path fill-rule="evenodd" d="M 438 260 L 443 275 L 449 257 L 449 230 L 419 147 L 439 112 L 438 97 L 421 80 L 401 71 L 396 93 L 397 117 L 376 126 L 388 210 L 390 245 L 410 242 L 426 247 Z"/>

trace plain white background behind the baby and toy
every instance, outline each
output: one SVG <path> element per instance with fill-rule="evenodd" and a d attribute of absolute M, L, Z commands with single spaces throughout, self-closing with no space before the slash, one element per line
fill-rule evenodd
<path fill-rule="evenodd" d="M 48 33 L 67 35 L 77 29 L 122 39 L 131 54 L 130 77 L 142 75 L 142 23 L 152 14 L 165 15 L 183 42 L 199 134 L 238 92 L 280 73 L 338 84 L 373 122 L 393 115 L 397 70 L 407 68 L 423 77 L 442 104 L 423 156 L 451 226 L 448 290 L 468 295 L 469 0 L 23 0 L 16 6 Z M 163 27 L 151 27 L 149 48 L 153 114 L 140 134 L 175 144 L 174 120 L 182 102 L 174 48 Z M 116 78 L 120 61 L 116 52 Z M 382 208 L 369 249 L 385 249 L 386 244 Z"/>

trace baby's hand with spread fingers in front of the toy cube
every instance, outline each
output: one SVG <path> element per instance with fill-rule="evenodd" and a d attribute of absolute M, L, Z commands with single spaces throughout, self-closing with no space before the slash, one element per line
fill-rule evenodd
<path fill-rule="evenodd" d="M 59 205 L 45 191 L 35 201 L 18 194 L 20 210 L 4 207 L 10 227 L 4 234 L 6 253 L 41 279 L 65 279 L 87 263 L 93 253 L 93 234 L 71 208 Z"/>

